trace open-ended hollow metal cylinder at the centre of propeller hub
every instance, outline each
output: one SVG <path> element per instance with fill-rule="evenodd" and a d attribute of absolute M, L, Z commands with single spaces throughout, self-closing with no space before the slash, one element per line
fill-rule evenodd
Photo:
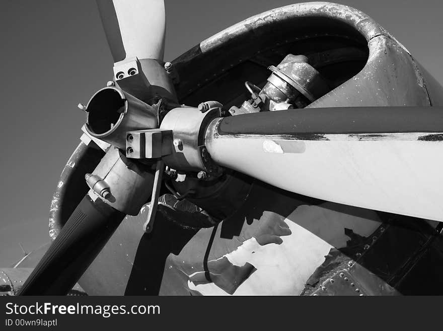
<path fill-rule="evenodd" d="M 115 87 L 105 87 L 94 94 L 86 111 L 88 133 L 123 150 L 127 131 L 158 126 L 153 107 Z"/>

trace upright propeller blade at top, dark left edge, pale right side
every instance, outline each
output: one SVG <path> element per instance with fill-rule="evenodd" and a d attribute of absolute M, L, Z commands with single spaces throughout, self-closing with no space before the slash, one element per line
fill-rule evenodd
<path fill-rule="evenodd" d="M 114 62 L 135 56 L 163 60 L 163 0 L 97 0 L 97 6 Z"/>

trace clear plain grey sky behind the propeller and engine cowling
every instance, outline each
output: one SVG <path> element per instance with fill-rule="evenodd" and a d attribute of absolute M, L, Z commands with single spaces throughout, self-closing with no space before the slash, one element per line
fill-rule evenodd
<path fill-rule="evenodd" d="M 297 0 L 166 0 L 165 60 L 252 15 Z M 443 83 L 443 1 L 343 0 L 370 15 Z M 128 0 L 130 4 L 130 0 Z M 0 267 L 49 241 L 61 170 L 79 143 L 77 108 L 112 77 L 93 0 L 2 0 Z"/>

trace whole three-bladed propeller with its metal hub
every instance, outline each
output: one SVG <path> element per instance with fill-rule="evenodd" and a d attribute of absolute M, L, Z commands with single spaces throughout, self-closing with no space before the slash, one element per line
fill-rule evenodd
<path fill-rule="evenodd" d="M 114 146 L 96 170 L 102 168 L 87 175 L 88 185 L 95 193 L 85 195 L 18 295 L 66 294 L 125 215 L 138 212 L 138 203 L 144 203 L 152 185 L 161 181 L 163 161 L 169 166 L 168 162 L 184 165 L 174 167 L 177 170 L 205 169 L 216 176 L 219 169 L 212 168 L 209 161 L 213 161 L 273 186 L 322 200 L 443 221 L 443 193 L 439 187 L 443 179 L 443 109 L 438 107 L 304 108 L 215 119 L 224 112 L 214 101 L 202 103 L 198 109 L 169 109 L 161 129 L 165 129 L 165 137 L 167 131 L 172 131 L 174 141 L 165 139 L 165 144 L 176 148 L 165 145 L 171 152 L 161 156 L 167 157 L 155 157 L 158 174 L 154 177 L 149 172 L 149 162 L 128 160 L 116 147 L 124 149 L 124 144 L 133 140 L 131 133 L 137 131 L 131 130 L 140 129 L 132 120 L 140 118 L 137 114 L 148 116 L 150 111 L 159 109 L 163 99 L 169 98 L 170 105 L 176 101 L 174 86 L 166 73 L 170 66 L 163 63 L 164 2 L 131 0 L 130 6 L 123 0 L 97 3 L 116 62 L 116 82 L 111 85 L 117 84 L 123 92 L 108 86 L 95 95 L 95 100 L 104 103 L 94 108 L 95 103 L 90 101 L 88 107 L 81 108 L 100 115 L 98 121 L 93 120 L 94 116 L 89 118 L 90 135 L 103 140 L 118 130 L 124 135 L 118 135 L 121 146 L 107 141 Z M 278 74 L 275 68 L 273 72 Z M 283 77 L 283 83 L 289 81 L 284 75 L 279 77 Z M 278 83 L 268 80 L 271 81 Z M 255 97 L 259 102 L 260 95 Z M 177 117 L 180 112 L 181 118 Z M 155 119 L 152 123 L 156 124 L 136 124 L 146 129 L 140 131 L 158 129 L 144 127 L 157 125 Z M 97 122 L 100 132 L 94 132 Z M 183 130 L 176 130 L 176 126 Z M 153 138 L 164 137 L 160 133 L 142 137 L 163 144 L 163 138 Z M 159 149 L 162 153 L 163 147 Z M 131 154 L 128 150 L 126 153 Z M 110 181 L 124 189 L 114 189 Z M 135 186 L 143 189 L 142 194 L 131 190 Z M 158 189 L 156 185 L 157 194 Z M 126 208 L 130 212 L 123 212 Z M 146 229 L 147 225 L 152 226 L 145 224 Z"/>

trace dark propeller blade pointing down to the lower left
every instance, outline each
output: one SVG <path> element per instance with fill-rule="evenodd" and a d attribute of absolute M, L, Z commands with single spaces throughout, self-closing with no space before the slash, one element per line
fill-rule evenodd
<path fill-rule="evenodd" d="M 65 295 L 125 214 L 85 195 L 17 295 Z"/>

